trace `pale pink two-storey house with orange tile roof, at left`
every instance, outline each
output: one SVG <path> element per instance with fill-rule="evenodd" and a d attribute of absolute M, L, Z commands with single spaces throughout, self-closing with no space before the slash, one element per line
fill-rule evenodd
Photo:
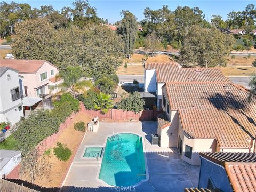
<path fill-rule="evenodd" d="M 19 75 L 24 77 L 24 93 L 29 97 L 50 94 L 51 88 L 61 82 L 55 79 L 58 68 L 48 61 L 8 59 L 0 60 L 0 66 L 19 71 Z"/>

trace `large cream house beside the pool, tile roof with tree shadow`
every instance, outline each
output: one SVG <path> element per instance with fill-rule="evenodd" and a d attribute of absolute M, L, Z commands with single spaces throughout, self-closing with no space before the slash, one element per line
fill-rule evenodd
<path fill-rule="evenodd" d="M 157 132 L 161 147 L 178 147 L 199 165 L 199 152 L 255 152 L 256 100 L 230 82 L 167 82 Z"/>

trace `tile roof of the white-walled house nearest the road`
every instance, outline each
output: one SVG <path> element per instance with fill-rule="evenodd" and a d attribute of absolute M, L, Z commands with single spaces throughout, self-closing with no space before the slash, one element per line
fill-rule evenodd
<path fill-rule="evenodd" d="M 166 82 L 230 82 L 220 68 L 181 68 L 176 62 L 145 63 L 145 69 L 156 69 L 158 83 Z"/>

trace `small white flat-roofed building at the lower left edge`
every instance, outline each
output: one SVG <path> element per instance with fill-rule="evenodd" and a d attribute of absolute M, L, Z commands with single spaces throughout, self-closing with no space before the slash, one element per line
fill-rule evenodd
<path fill-rule="evenodd" d="M 9 174 L 20 161 L 20 151 L 0 149 L 0 178 Z"/>

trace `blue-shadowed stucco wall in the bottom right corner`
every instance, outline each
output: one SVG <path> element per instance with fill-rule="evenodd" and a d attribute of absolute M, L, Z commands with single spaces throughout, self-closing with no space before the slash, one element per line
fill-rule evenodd
<path fill-rule="evenodd" d="M 225 192 L 233 191 L 224 167 L 207 161 L 207 159 L 201 157 L 201 169 L 198 188 L 209 187 L 209 179 L 215 188 Z"/>

